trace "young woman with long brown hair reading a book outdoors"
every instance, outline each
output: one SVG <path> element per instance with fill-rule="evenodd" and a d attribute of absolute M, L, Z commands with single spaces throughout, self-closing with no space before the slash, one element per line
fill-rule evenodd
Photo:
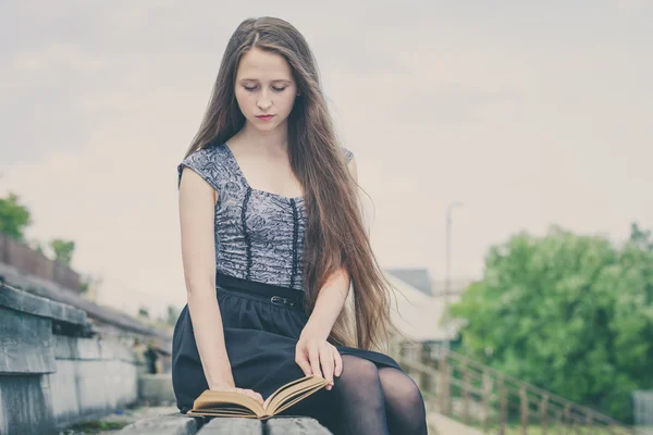
<path fill-rule="evenodd" d="M 390 291 L 359 210 L 355 159 L 336 140 L 316 61 L 289 23 L 238 26 L 177 172 L 181 412 L 207 388 L 262 401 L 319 374 L 326 388 L 285 413 L 335 434 L 426 434 L 419 388 L 380 351 Z"/>

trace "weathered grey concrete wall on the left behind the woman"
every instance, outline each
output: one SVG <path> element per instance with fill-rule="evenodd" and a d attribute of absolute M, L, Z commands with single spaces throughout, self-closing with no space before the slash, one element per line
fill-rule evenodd
<path fill-rule="evenodd" d="M 94 334 L 82 310 L 0 285 L 0 434 L 54 434 L 137 400 L 131 341 Z"/>

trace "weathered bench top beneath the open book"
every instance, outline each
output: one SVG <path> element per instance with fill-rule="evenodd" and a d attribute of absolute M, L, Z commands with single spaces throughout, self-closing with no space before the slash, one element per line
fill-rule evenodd
<path fill-rule="evenodd" d="M 180 412 L 151 417 L 123 427 L 118 435 L 330 435 L 331 432 L 308 417 L 256 419 L 189 417 Z"/>

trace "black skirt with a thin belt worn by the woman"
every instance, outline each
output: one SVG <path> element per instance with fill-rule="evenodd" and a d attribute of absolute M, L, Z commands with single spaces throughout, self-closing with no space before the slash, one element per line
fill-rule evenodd
<path fill-rule="evenodd" d="M 304 376 L 295 362 L 295 346 L 308 316 L 303 291 L 217 274 L 218 304 L 222 315 L 226 352 L 236 387 L 260 393 L 263 399 L 282 385 Z M 377 366 L 399 369 L 391 357 L 371 350 L 336 346 L 341 355 L 365 358 Z M 172 340 L 172 385 L 182 413 L 208 388 L 193 334 L 188 306 L 180 314 Z M 331 391 L 322 388 L 282 414 L 309 415 L 322 406 L 311 403 Z"/>

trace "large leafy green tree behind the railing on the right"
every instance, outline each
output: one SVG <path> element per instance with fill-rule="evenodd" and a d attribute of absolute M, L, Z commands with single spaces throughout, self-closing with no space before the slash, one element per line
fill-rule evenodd
<path fill-rule="evenodd" d="M 464 352 L 616 418 L 653 388 L 653 245 L 636 224 L 621 246 L 556 226 L 515 235 L 452 312 L 469 320 Z"/>

